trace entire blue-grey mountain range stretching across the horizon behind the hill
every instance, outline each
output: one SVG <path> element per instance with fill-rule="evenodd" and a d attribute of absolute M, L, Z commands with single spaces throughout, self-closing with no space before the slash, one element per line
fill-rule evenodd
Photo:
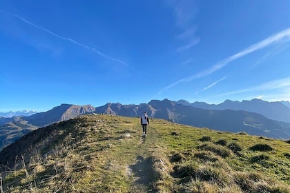
<path fill-rule="evenodd" d="M 287 102 L 285 102 L 287 104 Z M 288 102 L 289 103 L 289 102 Z M 244 106 L 244 109 L 241 108 Z M 213 108 L 220 108 L 214 110 Z M 247 111 L 247 110 L 249 111 Z M 250 111 L 251 110 L 251 111 Z M 61 104 L 47 112 L 31 116 L 13 116 L 0 118 L 0 150 L 21 136 L 59 121 L 66 121 L 81 114 L 109 114 L 119 116 L 140 116 L 148 112 L 152 118 L 166 119 L 171 122 L 191 125 L 198 128 L 210 128 L 226 132 L 247 132 L 251 135 L 267 136 L 276 139 L 290 139 L 290 123 L 278 120 L 290 120 L 290 108 L 282 102 L 270 103 L 260 99 L 252 101 L 224 101 L 220 105 L 189 103 L 184 100 L 152 100 L 139 105 L 106 103 L 94 108 L 92 105 Z M 257 112 L 260 112 L 257 113 Z M 283 112 L 278 116 L 280 112 Z M 276 117 L 276 120 L 267 116 Z"/>

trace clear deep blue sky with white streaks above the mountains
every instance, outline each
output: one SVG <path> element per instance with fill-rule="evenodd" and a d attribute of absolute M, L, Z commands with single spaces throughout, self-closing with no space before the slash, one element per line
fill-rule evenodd
<path fill-rule="evenodd" d="M 290 1 L 0 0 L 0 112 L 290 101 Z"/>

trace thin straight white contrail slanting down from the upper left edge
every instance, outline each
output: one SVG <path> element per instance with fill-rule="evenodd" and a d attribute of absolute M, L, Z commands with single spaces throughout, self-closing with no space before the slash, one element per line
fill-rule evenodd
<path fill-rule="evenodd" d="M 122 60 L 115 59 L 115 58 L 113 58 L 113 57 L 109 57 L 108 55 L 103 54 L 103 53 L 100 52 L 99 50 L 96 50 L 95 48 L 91 48 L 91 47 L 88 46 L 88 45 L 84 45 L 83 43 L 79 43 L 78 41 L 75 41 L 74 39 L 70 39 L 70 38 L 68 38 L 68 37 L 62 37 L 61 35 L 56 34 L 55 32 L 52 32 L 52 31 L 50 31 L 50 30 L 47 30 L 46 28 L 43 28 L 43 27 L 41 27 L 41 26 L 37 26 L 35 23 L 32 23 L 32 22 L 30 22 L 30 21 L 24 19 L 23 17 L 21 17 L 21 16 L 19 16 L 19 15 L 17 15 L 17 14 L 10 14 L 10 13 L 8 13 L 8 12 L 4 12 L 3 10 L 0 10 L 0 12 L 3 13 L 3 14 L 6 14 L 6 15 L 10 15 L 10 16 L 12 16 L 12 17 L 16 17 L 16 18 L 20 19 L 21 21 L 27 23 L 28 25 L 33 26 L 33 27 L 35 27 L 35 28 L 38 28 L 38 29 L 40 29 L 40 30 L 43 30 L 44 32 L 47 32 L 48 34 L 51 34 L 52 36 L 55 36 L 55 37 L 57 37 L 57 38 L 59 38 L 59 39 L 63 39 L 64 41 L 70 41 L 71 43 L 74 43 L 75 45 L 79 45 L 80 47 L 82 47 L 82 48 L 86 48 L 86 49 L 88 49 L 88 50 L 93 50 L 93 52 L 99 54 L 99 56 L 101 56 L 101 57 L 104 57 L 104 58 L 106 58 L 106 59 L 110 59 L 110 60 L 112 60 L 112 61 L 116 61 L 116 62 L 118 62 L 118 63 L 122 63 L 122 64 L 124 64 L 124 65 L 126 65 L 126 66 L 129 66 L 126 62 L 124 62 L 124 61 L 122 61 Z"/>

